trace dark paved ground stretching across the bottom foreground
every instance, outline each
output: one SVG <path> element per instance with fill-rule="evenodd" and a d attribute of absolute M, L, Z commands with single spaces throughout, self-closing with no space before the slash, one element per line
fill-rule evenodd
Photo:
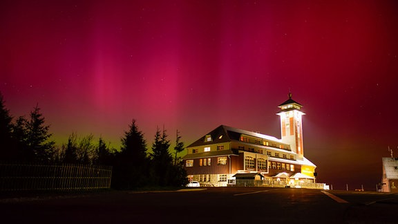
<path fill-rule="evenodd" d="M 1 223 L 397 223 L 398 195 L 211 187 L 3 199 L 0 211 Z"/>

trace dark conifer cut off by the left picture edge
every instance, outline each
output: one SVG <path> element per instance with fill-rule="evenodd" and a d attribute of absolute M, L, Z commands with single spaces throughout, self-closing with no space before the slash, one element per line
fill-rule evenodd
<path fill-rule="evenodd" d="M 12 117 L 0 93 L 0 160 L 12 161 L 18 156 L 17 144 L 12 138 Z"/>

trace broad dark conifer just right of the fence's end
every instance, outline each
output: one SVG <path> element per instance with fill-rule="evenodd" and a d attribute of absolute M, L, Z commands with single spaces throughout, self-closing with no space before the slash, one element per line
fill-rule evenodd
<path fill-rule="evenodd" d="M 135 189 L 149 185 L 146 141 L 135 120 L 131 122 L 129 131 L 124 132 L 121 140 L 121 151 L 116 154 L 113 166 L 113 187 Z"/>

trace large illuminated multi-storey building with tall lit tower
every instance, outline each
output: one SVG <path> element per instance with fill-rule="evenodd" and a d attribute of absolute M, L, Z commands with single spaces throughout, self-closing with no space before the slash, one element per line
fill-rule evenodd
<path fill-rule="evenodd" d="M 189 179 L 216 187 L 243 182 L 314 185 L 316 165 L 304 157 L 302 105 L 292 100 L 290 93 L 289 99 L 278 107 L 281 139 L 220 125 L 187 147 L 182 160 Z"/>

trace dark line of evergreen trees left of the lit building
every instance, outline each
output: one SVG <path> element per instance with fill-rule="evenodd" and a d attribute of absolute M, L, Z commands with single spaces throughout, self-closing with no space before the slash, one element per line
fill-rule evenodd
<path fill-rule="evenodd" d="M 49 128 L 38 105 L 28 117 L 13 118 L 0 93 L 1 162 L 110 165 L 114 189 L 180 187 L 187 183 L 187 172 L 177 156 L 184 150 L 179 131 L 173 156 L 164 128 L 156 130 L 149 152 L 144 133 L 135 120 L 124 131 L 120 150 L 110 147 L 102 137 L 95 141 L 92 134 L 79 137 L 77 133 L 71 133 L 66 143 L 57 146 L 50 140 Z"/>

